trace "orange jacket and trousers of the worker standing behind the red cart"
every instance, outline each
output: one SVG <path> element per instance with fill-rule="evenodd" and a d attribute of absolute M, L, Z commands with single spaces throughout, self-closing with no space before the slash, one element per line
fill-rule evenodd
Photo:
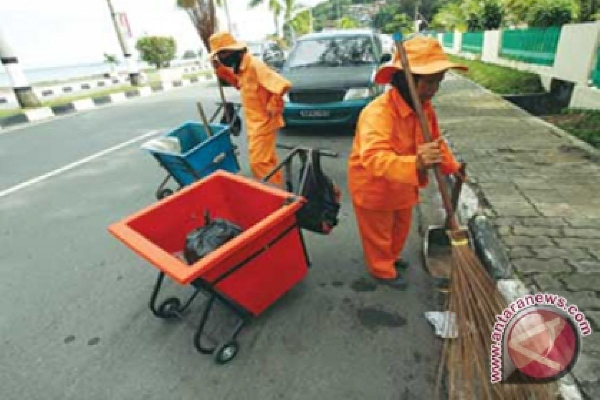
<path fill-rule="evenodd" d="M 277 164 L 277 132 L 283 121 L 283 95 L 292 84 L 262 61 L 246 53 L 236 75 L 230 68 L 219 67 L 217 75 L 239 89 L 248 133 L 250 169 L 256 179 L 265 178 Z M 278 172 L 270 181 L 283 187 L 283 174 Z"/>

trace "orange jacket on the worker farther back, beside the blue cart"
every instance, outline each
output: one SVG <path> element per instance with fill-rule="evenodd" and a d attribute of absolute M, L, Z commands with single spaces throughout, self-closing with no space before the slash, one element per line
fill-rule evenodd
<path fill-rule="evenodd" d="M 239 75 L 221 65 L 217 75 L 239 89 L 249 137 L 277 133 L 283 128 L 283 95 L 292 83 L 271 70 L 265 63 L 246 53 Z"/>

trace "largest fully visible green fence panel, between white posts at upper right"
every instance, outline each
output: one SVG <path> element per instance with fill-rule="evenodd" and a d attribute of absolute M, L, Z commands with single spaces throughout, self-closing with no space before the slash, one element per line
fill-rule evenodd
<path fill-rule="evenodd" d="M 554 65 L 562 28 L 515 29 L 502 32 L 500 56 L 538 65 Z"/>

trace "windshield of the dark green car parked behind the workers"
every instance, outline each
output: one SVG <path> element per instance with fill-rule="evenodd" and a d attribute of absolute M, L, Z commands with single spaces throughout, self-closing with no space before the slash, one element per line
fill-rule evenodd
<path fill-rule="evenodd" d="M 370 36 L 303 40 L 290 55 L 287 68 L 350 67 L 377 64 Z"/>

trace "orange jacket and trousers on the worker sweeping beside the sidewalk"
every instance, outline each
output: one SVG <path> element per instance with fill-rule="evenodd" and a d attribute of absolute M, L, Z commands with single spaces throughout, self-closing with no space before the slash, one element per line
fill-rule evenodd
<path fill-rule="evenodd" d="M 430 103 L 424 104 L 433 139 L 440 137 Z M 416 168 L 416 149 L 424 143 L 418 118 L 397 90 L 373 101 L 359 118 L 348 165 L 350 195 L 355 205 L 369 272 L 395 278 L 394 261 L 410 231 L 412 208 L 426 174 Z M 458 172 L 460 164 L 442 143 L 442 173 Z"/>

